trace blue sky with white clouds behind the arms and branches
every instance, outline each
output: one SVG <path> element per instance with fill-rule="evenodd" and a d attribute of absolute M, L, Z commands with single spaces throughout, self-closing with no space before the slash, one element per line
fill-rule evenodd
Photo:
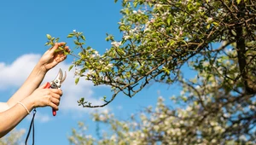
<path fill-rule="evenodd" d="M 107 32 L 115 38 L 121 37 L 118 29 L 120 9 L 120 3 L 113 3 L 113 0 L 1 1 L 0 102 L 6 102 L 15 93 L 48 49 L 44 46 L 46 34 L 61 38 L 73 49 L 72 39 L 67 39 L 67 34 L 73 30 L 84 32 L 86 44 L 102 53 L 110 47 L 110 43 L 105 41 Z M 69 56 L 65 62 L 49 71 L 44 82 L 55 78 L 59 68 L 67 71 L 72 61 L 73 58 Z M 55 117 L 51 115 L 51 108 L 38 108 L 35 122 L 37 145 L 67 145 L 67 136 L 71 135 L 78 121 L 84 121 L 89 126 L 89 133 L 94 134 L 96 125 L 89 115 L 93 109 L 79 107 L 77 101 L 85 97 L 98 104 L 102 96 L 111 96 L 106 86 L 94 87 L 84 80 L 75 85 L 73 71 L 67 72 L 62 90 L 60 111 Z M 169 98 L 177 90 L 178 87 L 174 85 L 151 84 L 132 99 L 119 94 L 108 107 L 100 110 L 108 109 L 120 119 L 127 119 L 131 113 L 143 107 L 154 106 L 157 96 Z M 31 119 L 32 115 L 27 116 L 17 129 L 27 132 Z"/>

